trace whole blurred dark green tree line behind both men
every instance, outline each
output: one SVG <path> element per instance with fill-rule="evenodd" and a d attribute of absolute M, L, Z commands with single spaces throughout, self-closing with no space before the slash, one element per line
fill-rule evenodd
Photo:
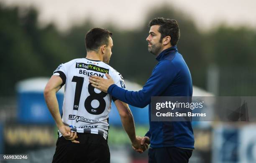
<path fill-rule="evenodd" d="M 3 8 L 0 3 L 0 96 L 14 95 L 14 86 L 19 80 L 50 77 L 59 64 L 85 57 L 84 35 L 95 27 L 92 20 L 87 20 L 66 33 L 60 33 L 53 24 L 40 28 L 35 9 L 25 11 L 21 12 L 17 7 Z M 111 23 L 101 26 L 113 32 L 110 65 L 124 78 L 143 85 L 151 75 L 157 62 L 147 50 L 147 25 L 157 17 L 177 20 L 181 33 L 177 47 L 187 62 L 194 85 L 206 88 L 207 67 L 213 63 L 220 67 L 256 68 L 255 30 L 221 25 L 213 31 L 200 33 L 192 18 L 171 6 L 164 5 L 150 11 L 138 29 L 118 29 Z M 241 83 L 236 87 L 241 87 Z"/>

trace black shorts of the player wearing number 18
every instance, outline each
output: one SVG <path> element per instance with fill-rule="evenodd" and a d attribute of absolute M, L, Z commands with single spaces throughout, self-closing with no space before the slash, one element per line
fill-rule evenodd
<path fill-rule="evenodd" d="M 110 163 L 108 142 L 101 135 L 77 133 L 80 143 L 58 138 L 53 163 Z"/>

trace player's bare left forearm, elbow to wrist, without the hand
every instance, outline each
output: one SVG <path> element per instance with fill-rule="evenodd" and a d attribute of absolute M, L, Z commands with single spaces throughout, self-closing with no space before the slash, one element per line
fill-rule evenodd
<path fill-rule="evenodd" d="M 56 91 L 51 90 L 51 91 L 45 92 L 44 98 L 46 101 L 46 105 L 47 105 L 52 117 L 54 118 L 57 127 L 59 128 L 60 126 L 64 125 L 61 120 L 61 115 L 59 113 L 59 104 L 58 104 L 58 100 L 56 97 Z"/>

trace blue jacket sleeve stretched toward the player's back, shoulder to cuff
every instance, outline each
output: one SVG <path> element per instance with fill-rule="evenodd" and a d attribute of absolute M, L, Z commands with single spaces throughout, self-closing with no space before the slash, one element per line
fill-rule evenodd
<path fill-rule="evenodd" d="M 108 88 L 108 93 L 125 103 L 144 108 L 151 102 L 151 97 L 160 95 L 176 76 L 174 64 L 169 60 L 162 60 L 156 65 L 142 90 L 128 91 L 113 84 Z"/>

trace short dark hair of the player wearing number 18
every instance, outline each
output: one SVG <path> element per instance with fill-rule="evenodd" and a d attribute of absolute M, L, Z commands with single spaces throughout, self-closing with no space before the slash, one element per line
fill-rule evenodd
<path fill-rule="evenodd" d="M 107 45 L 109 42 L 109 37 L 112 36 L 112 33 L 103 28 L 92 28 L 85 35 L 85 46 L 87 51 L 97 51 L 101 45 Z"/>

